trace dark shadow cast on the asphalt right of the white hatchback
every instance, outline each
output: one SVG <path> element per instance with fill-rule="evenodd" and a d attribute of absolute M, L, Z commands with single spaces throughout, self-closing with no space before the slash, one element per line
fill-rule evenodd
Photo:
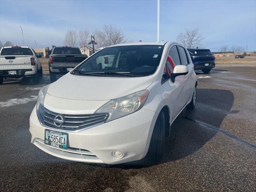
<path fill-rule="evenodd" d="M 161 163 L 182 159 L 202 148 L 217 133 L 206 125 L 219 128 L 234 103 L 229 90 L 197 89 L 197 96 L 196 108 L 184 109 L 173 122 Z"/>

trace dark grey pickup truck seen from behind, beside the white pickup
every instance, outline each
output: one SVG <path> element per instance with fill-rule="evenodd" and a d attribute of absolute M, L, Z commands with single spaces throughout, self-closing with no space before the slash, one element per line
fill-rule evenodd
<path fill-rule="evenodd" d="M 70 72 L 86 58 L 78 47 L 54 47 L 48 62 L 51 82 L 56 81 L 57 74 Z"/>

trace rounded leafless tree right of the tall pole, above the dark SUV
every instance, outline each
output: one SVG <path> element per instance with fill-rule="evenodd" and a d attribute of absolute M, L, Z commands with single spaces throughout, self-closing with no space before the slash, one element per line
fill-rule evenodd
<path fill-rule="evenodd" d="M 204 36 L 202 32 L 196 29 L 185 29 L 185 32 L 178 34 L 176 40 L 186 48 L 196 48 L 202 46 Z"/>

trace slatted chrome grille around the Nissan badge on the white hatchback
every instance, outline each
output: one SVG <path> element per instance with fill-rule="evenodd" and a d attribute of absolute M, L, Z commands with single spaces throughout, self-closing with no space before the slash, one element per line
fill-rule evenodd
<path fill-rule="evenodd" d="M 62 114 L 65 118 L 64 123 L 61 126 L 56 126 L 54 124 L 54 118 L 59 113 L 52 112 L 46 109 L 44 106 L 40 105 L 37 111 L 40 123 L 44 126 L 49 126 L 50 128 L 77 131 L 81 129 L 91 128 L 93 126 L 103 124 L 108 118 L 108 113 L 99 114 L 84 114 L 84 115 L 68 115 Z"/>

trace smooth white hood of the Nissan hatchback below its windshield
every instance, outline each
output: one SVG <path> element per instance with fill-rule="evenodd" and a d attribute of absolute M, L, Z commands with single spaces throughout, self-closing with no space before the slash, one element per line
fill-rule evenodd
<path fill-rule="evenodd" d="M 145 77 L 76 76 L 70 73 L 52 83 L 47 93 L 73 100 L 110 100 L 144 90 L 154 81 Z"/>

